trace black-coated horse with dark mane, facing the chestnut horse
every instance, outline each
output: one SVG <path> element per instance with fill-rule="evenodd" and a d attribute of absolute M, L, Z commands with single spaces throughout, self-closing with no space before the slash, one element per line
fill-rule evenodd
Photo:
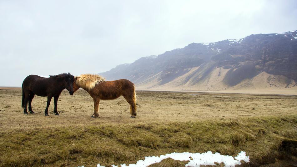
<path fill-rule="evenodd" d="M 48 102 L 45 108 L 45 116 L 48 116 L 48 106 L 54 97 L 54 113 L 59 115 L 57 111 L 58 98 L 63 89 L 67 89 L 69 94 L 73 95 L 73 82 L 74 76 L 70 73 L 62 73 L 59 75 L 50 75 L 49 78 L 43 78 L 38 75 L 29 75 L 23 81 L 23 98 L 22 98 L 22 108 L 24 109 L 24 114 L 27 112 L 27 103 L 29 102 L 29 111 L 33 114 L 31 102 L 35 94 L 37 96 L 47 96 Z"/>

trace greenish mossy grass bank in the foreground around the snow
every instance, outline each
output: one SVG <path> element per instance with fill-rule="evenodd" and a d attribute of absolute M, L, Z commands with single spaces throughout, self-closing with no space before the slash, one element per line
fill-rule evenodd
<path fill-rule="evenodd" d="M 2 130 L 0 166 L 108 166 L 136 163 L 145 156 L 206 151 L 232 156 L 245 151 L 251 164 L 272 163 L 283 157 L 284 139 L 297 139 L 297 115 Z M 162 163 L 185 164 L 170 159 Z"/>

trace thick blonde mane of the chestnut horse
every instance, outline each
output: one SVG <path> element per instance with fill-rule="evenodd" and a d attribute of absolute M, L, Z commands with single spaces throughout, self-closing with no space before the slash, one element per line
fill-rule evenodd
<path fill-rule="evenodd" d="M 105 82 L 105 78 L 96 74 L 81 74 L 76 80 L 76 84 L 86 91 L 92 90 L 96 84 L 102 82 Z"/>

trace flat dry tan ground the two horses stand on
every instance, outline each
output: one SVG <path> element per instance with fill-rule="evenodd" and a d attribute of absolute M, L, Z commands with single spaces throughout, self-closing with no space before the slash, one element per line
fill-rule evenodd
<path fill-rule="evenodd" d="M 23 114 L 21 90 L 0 90 L 0 128 L 30 129 L 36 126 L 59 127 L 69 124 L 127 124 L 184 122 L 203 119 L 229 119 L 254 116 L 296 114 L 297 96 L 272 96 L 218 93 L 137 92 L 137 117 L 130 118 L 129 104 L 123 97 L 101 100 L 99 118 L 91 118 L 93 99 L 85 90 L 74 95 L 63 91 L 58 100 L 60 116 L 53 114 L 53 99 L 48 117 L 44 116 L 46 97 L 35 96 L 35 114 Z"/>

